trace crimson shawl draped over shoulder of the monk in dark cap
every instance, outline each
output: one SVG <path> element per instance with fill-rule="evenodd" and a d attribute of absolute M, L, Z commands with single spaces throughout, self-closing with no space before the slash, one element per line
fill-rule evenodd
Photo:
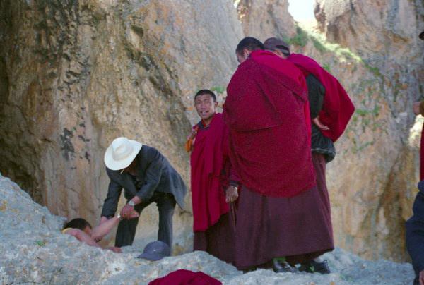
<path fill-rule="evenodd" d="M 327 138 L 336 142 L 345 131 L 355 111 L 348 93 L 333 75 L 310 57 L 302 54 L 290 54 L 287 60 L 295 63 L 302 71 L 312 73 L 324 85 L 325 96 L 322 110 L 319 112 L 319 120 L 330 129 L 327 131 L 321 130 L 321 132 Z"/>

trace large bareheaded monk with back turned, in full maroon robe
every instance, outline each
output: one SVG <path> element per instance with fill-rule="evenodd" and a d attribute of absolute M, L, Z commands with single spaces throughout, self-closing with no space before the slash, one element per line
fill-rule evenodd
<path fill-rule="evenodd" d="M 302 72 L 252 37 L 236 55 L 224 120 L 240 176 L 235 265 L 290 271 L 333 249 L 331 225 L 317 203 L 310 112 Z"/>

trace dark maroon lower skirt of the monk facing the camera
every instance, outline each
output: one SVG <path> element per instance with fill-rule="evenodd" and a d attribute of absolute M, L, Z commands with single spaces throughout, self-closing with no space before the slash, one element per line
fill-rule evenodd
<path fill-rule="evenodd" d="M 193 250 L 203 250 L 228 263 L 234 261 L 235 221 L 231 209 L 206 231 L 195 231 Z"/>

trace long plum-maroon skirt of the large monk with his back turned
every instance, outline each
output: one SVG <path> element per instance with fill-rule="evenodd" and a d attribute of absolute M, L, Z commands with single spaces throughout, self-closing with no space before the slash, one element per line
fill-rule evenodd
<path fill-rule="evenodd" d="M 307 262 L 334 249 L 325 162 L 313 155 L 318 185 L 292 198 L 272 198 L 242 188 L 235 234 L 235 266 L 270 267 L 274 257 L 291 265 Z"/>

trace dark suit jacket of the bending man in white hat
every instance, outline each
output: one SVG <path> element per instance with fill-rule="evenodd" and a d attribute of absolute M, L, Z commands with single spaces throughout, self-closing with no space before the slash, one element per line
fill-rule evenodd
<path fill-rule="evenodd" d="M 110 170 L 106 167 L 107 175 L 110 178 L 107 198 L 103 204 L 102 216 L 111 217 L 117 211 L 119 196 L 124 188 L 126 200 L 131 200 L 134 196 L 141 198 L 141 201 L 150 199 L 155 191 L 172 193 L 179 207 L 184 207 L 184 196 L 187 188 L 181 176 L 171 166 L 167 159 L 154 147 L 143 145 L 137 159 L 137 180 L 139 188 L 136 186 L 134 177 L 126 172 Z"/>

